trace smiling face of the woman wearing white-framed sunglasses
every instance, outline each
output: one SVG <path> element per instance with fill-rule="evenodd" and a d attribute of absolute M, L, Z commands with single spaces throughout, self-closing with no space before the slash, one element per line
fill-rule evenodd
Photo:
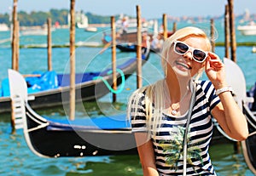
<path fill-rule="evenodd" d="M 179 40 L 183 43 L 186 43 L 191 48 L 198 48 L 202 51 L 207 51 L 207 42 L 203 37 L 186 37 L 183 40 Z M 194 77 L 202 67 L 205 65 L 193 60 L 193 50 L 189 50 L 186 54 L 177 54 L 173 50 L 174 44 L 169 51 L 169 59 L 167 69 L 172 69 L 177 77 Z M 172 71 L 167 70 L 167 74 Z"/>

